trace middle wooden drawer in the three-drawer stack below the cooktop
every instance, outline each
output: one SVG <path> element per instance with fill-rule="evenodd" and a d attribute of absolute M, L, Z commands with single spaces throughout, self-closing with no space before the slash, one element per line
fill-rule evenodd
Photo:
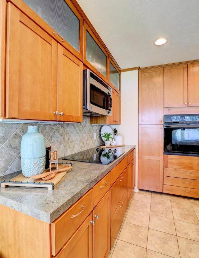
<path fill-rule="evenodd" d="M 113 216 L 128 184 L 128 167 L 111 187 L 111 217 Z"/>

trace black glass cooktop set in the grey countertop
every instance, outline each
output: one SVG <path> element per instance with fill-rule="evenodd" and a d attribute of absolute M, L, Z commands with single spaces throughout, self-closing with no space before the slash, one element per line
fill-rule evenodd
<path fill-rule="evenodd" d="M 82 161 L 107 165 L 124 153 L 123 147 L 100 148 L 95 147 L 77 152 L 62 158 L 62 160 Z"/>

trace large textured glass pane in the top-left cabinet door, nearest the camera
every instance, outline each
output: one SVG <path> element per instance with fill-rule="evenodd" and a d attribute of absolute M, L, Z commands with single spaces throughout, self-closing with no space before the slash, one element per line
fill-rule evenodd
<path fill-rule="evenodd" d="M 64 0 L 23 0 L 79 52 L 80 20 Z"/>

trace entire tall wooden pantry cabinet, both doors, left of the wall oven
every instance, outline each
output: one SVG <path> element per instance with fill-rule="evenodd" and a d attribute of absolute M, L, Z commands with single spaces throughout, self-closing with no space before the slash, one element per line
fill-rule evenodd
<path fill-rule="evenodd" d="M 164 68 L 139 70 L 138 188 L 163 191 Z"/>

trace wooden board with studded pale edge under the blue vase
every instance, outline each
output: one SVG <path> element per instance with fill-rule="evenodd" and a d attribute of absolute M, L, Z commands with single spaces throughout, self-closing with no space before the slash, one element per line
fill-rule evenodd
<path fill-rule="evenodd" d="M 66 166 L 66 164 L 58 164 L 58 169 L 61 169 L 62 167 Z M 38 188 L 48 188 L 48 190 L 53 190 L 54 187 L 59 183 L 59 181 L 65 176 L 65 174 L 72 168 L 71 165 L 68 165 L 68 168 L 66 168 L 63 172 L 58 172 L 52 179 L 50 180 L 42 180 L 42 179 L 33 179 L 30 177 L 25 177 L 22 173 L 18 176 L 10 179 L 10 180 L 3 180 L 0 182 L 1 188 L 5 188 L 7 186 L 21 186 L 21 187 L 38 187 Z M 56 170 L 52 169 L 51 171 Z M 45 173 L 49 172 L 49 169 L 44 170 L 44 176 Z"/>

